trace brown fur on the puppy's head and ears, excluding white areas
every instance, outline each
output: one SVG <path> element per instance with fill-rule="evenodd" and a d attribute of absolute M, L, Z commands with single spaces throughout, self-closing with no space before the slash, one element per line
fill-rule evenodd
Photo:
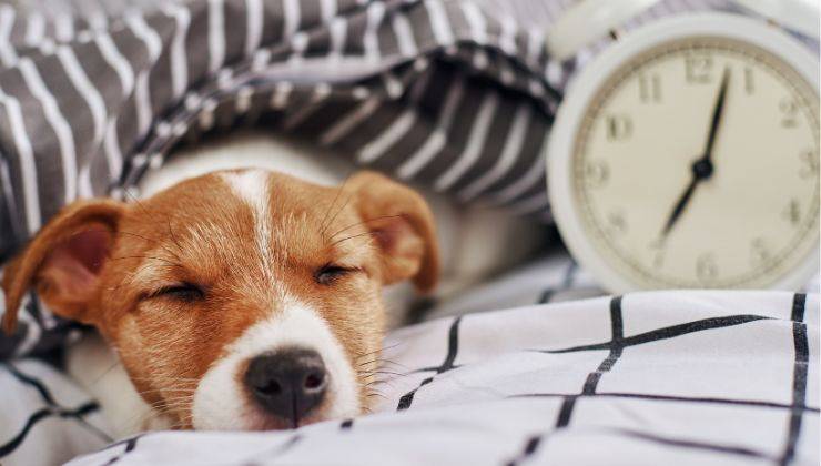
<path fill-rule="evenodd" d="M 381 288 L 413 278 L 429 291 L 438 252 L 432 214 L 414 191 L 371 172 L 342 188 L 270 174 L 273 270 L 254 247 L 252 209 L 219 174 L 139 203 L 74 203 L 7 269 L 3 328 L 14 328 L 20 300 L 36 286 L 57 314 L 97 326 L 143 398 L 190 428 L 199 379 L 245 328 L 277 312 L 273 290 L 284 286 L 327 321 L 366 407 L 384 332 Z M 320 284 L 326 264 L 355 272 Z M 205 297 L 154 295 L 180 282 Z"/>

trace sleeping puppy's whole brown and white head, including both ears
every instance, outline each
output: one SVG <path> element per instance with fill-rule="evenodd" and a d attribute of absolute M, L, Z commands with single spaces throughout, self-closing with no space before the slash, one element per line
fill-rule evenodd
<path fill-rule="evenodd" d="M 65 207 L 7 267 L 3 326 L 34 286 L 97 326 L 176 425 L 285 428 L 368 405 L 381 288 L 428 291 L 437 261 L 425 202 L 382 175 L 333 189 L 216 172 L 139 203 Z"/>

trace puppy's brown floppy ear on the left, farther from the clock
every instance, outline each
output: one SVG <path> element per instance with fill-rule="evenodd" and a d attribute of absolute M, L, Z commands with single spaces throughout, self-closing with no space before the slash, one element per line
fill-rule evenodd
<path fill-rule="evenodd" d="M 20 302 L 32 286 L 55 314 L 92 321 L 85 311 L 124 211 L 124 204 L 108 200 L 65 206 L 7 264 L 2 278 L 7 333 L 14 331 Z"/>

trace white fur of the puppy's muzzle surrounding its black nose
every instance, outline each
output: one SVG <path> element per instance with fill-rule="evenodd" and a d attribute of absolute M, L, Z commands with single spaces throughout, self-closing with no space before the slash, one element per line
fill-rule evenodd
<path fill-rule="evenodd" d="M 243 383 L 247 362 L 287 347 L 316 351 L 330 377 L 325 398 L 303 418 L 274 416 L 257 405 Z M 356 375 L 326 322 L 312 308 L 291 304 L 271 318 L 249 327 L 200 379 L 191 418 L 197 430 L 286 429 L 327 419 L 356 416 L 359 411 Z"/>

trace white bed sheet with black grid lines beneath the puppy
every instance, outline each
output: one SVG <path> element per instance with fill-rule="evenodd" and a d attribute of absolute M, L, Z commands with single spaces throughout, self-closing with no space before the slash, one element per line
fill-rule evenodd
<path fill-rule="evenodd" d="M 105 446 L 88 395 L 43 363 L 6 364 L 0 463 L 819 463 L 818 294 L 576 300 L 591 294 L 571 263 L 553 260 L 443 303 L 438 315 L 483 301 L 498 311 L 393 333 L 377 409 L 298 430 L 149 433 Z"/>

